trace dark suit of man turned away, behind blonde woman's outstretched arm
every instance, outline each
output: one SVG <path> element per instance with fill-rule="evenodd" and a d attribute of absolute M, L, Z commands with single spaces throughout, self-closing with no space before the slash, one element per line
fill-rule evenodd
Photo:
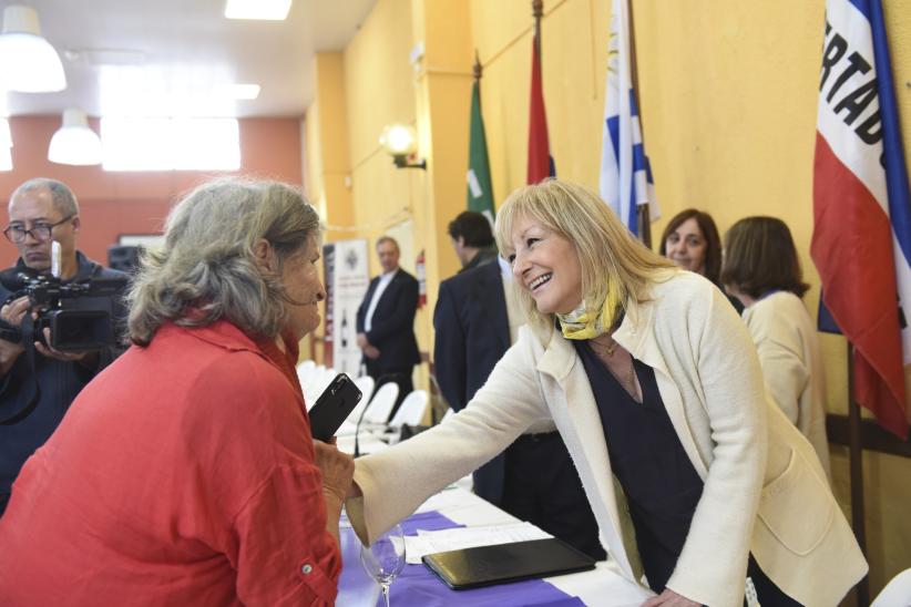
<path fill-rule="evenodd" d="M 440 391 L 457 411 L 484 384 L 524 323 L 511 281 L 511 269 L 498 258 L 440 285 L 433 312 L 434 368 Z M 529 428 L 473 476 L 474 493 L 484 500 L 605 558 L 579 474 L 552 421 Z"/>

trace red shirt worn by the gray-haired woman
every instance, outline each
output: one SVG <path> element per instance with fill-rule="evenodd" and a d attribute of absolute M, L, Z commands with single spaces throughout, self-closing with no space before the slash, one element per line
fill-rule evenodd
<path fill-rule="evenodd" d="M 332 604 L 295 350 L 166 325 L 99 374 L 13 485 L 0 603 Z"/>

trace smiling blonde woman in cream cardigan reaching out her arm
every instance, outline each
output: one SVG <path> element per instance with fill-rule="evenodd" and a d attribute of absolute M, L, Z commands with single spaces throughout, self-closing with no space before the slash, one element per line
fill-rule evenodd
<path fill-rule="evenodd" d="M 511 194 L 497 237 L 531 322 L 464 410 L 357 461 L 361 539 L 551 419 L 608 558 L 656 591 L 648 607 L 741 605 L 748 567 L 765 607 L 838 604 L 867 563 L 725 296 L 565 182 Z"/>

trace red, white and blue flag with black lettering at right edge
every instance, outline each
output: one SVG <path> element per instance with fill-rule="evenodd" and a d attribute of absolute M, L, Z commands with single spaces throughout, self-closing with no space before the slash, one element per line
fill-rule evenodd
<path fill-rule="evenodd" d="M 826 2 L 811 255 L 857 401 L 905 438 L 911 202 L 880 0 Z"/>

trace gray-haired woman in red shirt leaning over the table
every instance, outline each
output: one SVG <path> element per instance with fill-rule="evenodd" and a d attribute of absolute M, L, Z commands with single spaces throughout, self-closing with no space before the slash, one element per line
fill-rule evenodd
<path fill-rule="evenodd" d="M 171 213 L 133 347 L 25 464 L 0 519 L 7 605 L 331 605 L 354 463 L 310 439 L 297 343 L 320 234 L 290 186 L 227 179 Z"/>

